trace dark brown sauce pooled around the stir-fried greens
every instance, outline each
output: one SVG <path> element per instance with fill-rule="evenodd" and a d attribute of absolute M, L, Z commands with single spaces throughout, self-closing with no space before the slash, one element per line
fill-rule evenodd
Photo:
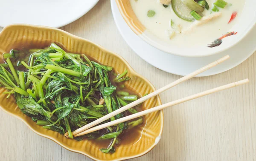
<path fill-rule="evenodd" d="M 15 59 L 12 59 L 12 63 L 15 67 L 15 69 L 19 70 L 19 71 L 26 71 L 26 68 L 23 65 L 20 65 L 20 61 L 24 60 L 26 63 L 29 61 L 29 49 L 44 49 L 45 47 L 48 47 L 51 43 L 44 43 L 41 46 L 35 45 L 35 44 L 25 44 L 25 43 L 15 43 L 14 46 L 12 46 L 12 48 L 10 47 L 9 50 L 11 49 L 15 49 L 15 50 L 19 50 L 19 54 L 16 55 Z M 60 43 L 56 43 L 58 46 L 60 46 L 62 49 L 64 49 L 66 52 L 70 52 L 68 51 L 62 44 Z M 79 54 L 85 54 L 86 53 L 79 53 Z M 95 58 L 92 58 L 90 56 L 88 56 L 88 58 L 90 60 L 93 60 L 97 63 L 100 63 L 98 60 L 96 60 Z M 0 63 L 5 63 L 4 59 L 0 60 Z M 115 73 L 115 74 L 114 74 Z M 110 72 L 109 77 L 110 80 L 113 80 L 113 78 L 116 77 L 116 75 L 119 75 L 118 72 L 116 72 L 114 69 Z M 139 97 L 141 97 L 141 95 L 139 93 L 136 93 L 132 90 L 132 88 L 130 86 L 125 86 L 125 88 L 120 89 L 119 86 L 122 85 L 122 83 L 115 83 L 113 81 L 111 81 L 111 83 L 114 86 L 117 86 L 117 90 L 116 91 L 125 91 L 125 92 L 129 92 L 131 95 L 137 95 Z M 134 107 L 138 112 L 142 111 L 144 103 L 141 104 L 140 106 L 136 106 Z M 129 115 L 129 112 L 124 112 L 125 115 Z M 125 129 L 124 132 L 119 135 L 118 138 L 121 139 L 121 143 L 119 145 L 125 146 L 125 145 L 131 145 L 131 143 L 136 143 L 138 140 L 140 140 L 141 137 L 141 131 L 143 130 L 143 127 L 145 126 L 146 122 L 145 119 L 143 119 L 143 124 L 141 124 L 140 126 L 135 126 L 132 129 Z M 97 140 L 89 140 L 89 143 L 92 146 L 96 146 L 99 149 L 100 148 L 107 148 L 108 145 L 111 143 L 111 140 L 101 140 L 101 141 L 97 141 Z M 116 150 L 118 150 L 118 146 L 114 146 L 116 148 Z"/>

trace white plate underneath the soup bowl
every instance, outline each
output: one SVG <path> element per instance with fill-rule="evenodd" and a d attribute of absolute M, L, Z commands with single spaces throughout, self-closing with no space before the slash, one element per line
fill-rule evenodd
<path fill-rule="evenodd" d="M 207 70 L 204 73 L 201 73 L 198 76 L 215 75 L 239 65 L 244 60 L 249 58 L 250 55 L 252 55 L 256 50 L 256 28 L 254 26 L 250 33 L 247 34 L 247 36 L 244 37 L 244 39 L 236 46 L 233 46 L 232 48 L 216 55 L 189 58 L 167 54 L 149 45 L 134 34 L 134 32 L 129 28 L 129 26 L 125 23 L 125 20 L 122 18 L 119 9 L 116 6 L 115 0 L 111 0 L 111 9 L 116 26 L 131 49 L 133 49 L 134 52 L 136 52 L 137 55 L 139 55 L 146 62 L 157 67 L 158 69 L 172 74 L 187 75 L 194 72 L 196 69 L 217 60 L 218 58 L 225 55 L 230 55 L 231 58 L 229 60 Z"/>

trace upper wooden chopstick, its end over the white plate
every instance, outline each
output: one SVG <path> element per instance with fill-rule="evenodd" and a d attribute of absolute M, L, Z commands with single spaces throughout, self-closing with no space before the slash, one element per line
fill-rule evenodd
<path fill-rule="evenodd" d="M 93 127 L 93 126 L 95 126 L 95 125 L 97 125 L 97 124 L 99 124 L 99 123 L 101 123 L 101 122 L 103 122 L 105 120 L 108 120 L 109 118 L 111 118 L 111 117 L 113 117 L 113 116 L 115 116 L 115 115 L 117 115 L 117 114 L 119 114 L 121 112 L 124 112 L 127 109 L 130 109 L 130 108 L 132 108 L 132 107 L 134 107 L 134 106 L 136 106 L 136 105 L 138 105 L 140 103 L 143 103 L 144 101 L 148 100 L 149 98 L 152 98 L 152 97 L 154 97 L 156 95 L 159 95 L 161 92 L 164 92 L 167 89 L 170 89 L 170 88 L 176 86 L 177 84 L 180 84 L 180 83 L 182 83 L 182 82 L 184 82 L 186 80 L 189 80 L 190 78 L 193 78 L 194 76 L 196 76 L 196 75 L 198 75 L 198 74 L 200 74 L 200 73 L 202 73 L 202 72 L 204 72 L 204 71 L 206 71 L 206 70 L 208 70 L 208 69 L 218 65 L 219 63 L 224 62 L 225 60 L 227 60 L 229 58 L 230 58 L 230 56 L 226 55 L 223 58 L 220 58 L 219 60 L 216 60 L 216 61 L 208 64 L 207 66 L 204 66 L 201 69 L 198 69 L 195 72 L 190 73 L 189 75 L 186 75 L 186 76 L 184 76 L 184 77 L 182 77 L 182 78 L 180 78 L 178 80 L 175 80 L 174 82 L 172 82 L 172 83 L 170 83 L 170 84 L 168 84 L 168 85 L 166 85 L 166 86 L 164 86 L 164 87 L 162 87 L 162 88 L 160 88 L 160 89 L 158 89 L 158 90 L 156 90 L 156 91 L 154 91 L 154 92 L 152 92 L 152 93 L 150 93 L 150 94 L 148 94 L 148 95 L 146 95 L 146 96 L 144 96 L 144 97 L 142 97 L 140 99 L 138 99 L 137 101 L 129 103 L 128 105 L 123 106 L 122 108 L 117 109 L 116 111 L 113 111 L 113 112 L 109 113 L 108 115 L 103 116 L 102 118 L 99 118 L 99 119 L 97 119 L 97 120 L 95 120 L 95 121 L 93 121 L 93 122 L 91 122 L 91 123 L 89 123 L 87 125 L 84 125 L 84 126 L 80 127 L 79 129 L 76 129 L 75 131 L 72 132 L 72 135 L 76 135 L 76 134 L 78 134 L 80 132 L 83 132 L 84 130 L 89 129 L 89 128 L 91 128 L 91 127 Z M 67 132 L 65 133 L 65 136 L 67 138 L 69 137 Z"/>

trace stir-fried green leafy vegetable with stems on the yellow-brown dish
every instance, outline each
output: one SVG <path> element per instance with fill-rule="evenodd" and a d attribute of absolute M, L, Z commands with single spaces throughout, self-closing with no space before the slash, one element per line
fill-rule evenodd
<path fill-rule="evenodd" d="M 9 90 L 7 98 L 14 94 L 20 110 L 45 129 L 68 132 L 69 138 L 74 138 L 72 131 L 138 98 L 119 90 L 118 86 L 130 79 L 127 70 L 116 75 L 111 66 L 91 61 L 86 55 L 67 53 L 55 43 L 29 52 L 29 59 L 23 60 L 17 60 L 17 50 L 3 54 L 6 64 L 0 64 L 0 84 Z M 131 108 L 108 121 L 137 112 Z M 115 152 L 125 129 L 141 124 L 143 118 L 138 118 L 74 139 L 110 140 L 109 146 L 100 150 Z"/>

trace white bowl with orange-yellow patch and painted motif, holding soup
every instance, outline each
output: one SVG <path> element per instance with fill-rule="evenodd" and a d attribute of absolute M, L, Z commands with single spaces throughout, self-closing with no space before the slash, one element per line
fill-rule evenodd
<path fill-rule="evenodd" d="M 116 0 L 119 11 L 128 26 L 145 42 L 154 46 L 163 52 L 185 56 L 185 57 L 203 57 L 214 55 L 224 50 L 231 48 L 242 40 L 245 35 L 255 26 L 256 24 L 256 0 L 246 0 L 243 12 L 240 15 L 237 23 L 230 29 L 230 32 L 237 32 L 236 35 L 225 37 L 220 46 L 209 48 L 208 46 L 192 46 L 192 47 L 180 47 L 175 44 L 161 40 L 155 36 L 149 29 L 143 26 L 136 15 L 129 0 Z M 216 39 L 222 35 L 216 35 Z M 212 40 L 214 41 L 214 40 Z M 211 42 L 209 42 L 211 43 Z"/>

